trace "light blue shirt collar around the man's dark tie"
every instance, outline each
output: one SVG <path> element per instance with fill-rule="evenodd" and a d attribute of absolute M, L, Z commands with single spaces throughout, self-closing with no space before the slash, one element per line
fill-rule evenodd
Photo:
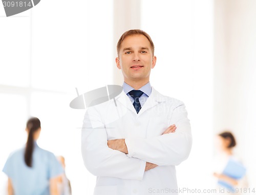
<path fill-rule="evenodd" d="M 134 88 L 132 86 L 130 86 L 126 82 L 123 82 L 123 91 L 130 98 L 131 102 L 133 103 L 134 102 L 134 98 L 132 96 L 130 96 L 130 94 L 129 94 L 129 92 L 131 92 L 132 90 L 134 90 Z M 152 92 L 152 88 L 151 88 L 150 82 L 146 83 L 145 85 L 143 85 L 138 90 L 143 92 L 143 94 L 139 98 L 140 105 L 142 107 L 144 105 L 144 103 L 146 102 L 147 98 L 150 96 L 150 94 Z"/>

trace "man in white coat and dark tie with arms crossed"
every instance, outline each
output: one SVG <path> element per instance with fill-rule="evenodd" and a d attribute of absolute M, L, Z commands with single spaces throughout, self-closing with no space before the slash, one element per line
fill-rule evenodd
<path fill-rule="evenodd" d="M 82 157 L 96 195 L 178 194 L 175 166 L 190 153 L 190 123 L 183 102 L 151 86 L 154 49 L 144 31 L 126 31 L 116 58 L 123 92 L 84 117 Z"/>

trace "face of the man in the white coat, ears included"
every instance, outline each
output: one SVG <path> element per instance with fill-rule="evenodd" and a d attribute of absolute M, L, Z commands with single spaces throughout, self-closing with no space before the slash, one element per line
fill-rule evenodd
<path fill-rule="evenodd" d="M 122 70 L 124 82 L 148 82 L 155 64 L 156 56 L 153 56 L 150 41 L 144 35 L 125 37 L 121 43 L 119 57 L 116 58 L 116 65 Z"/>

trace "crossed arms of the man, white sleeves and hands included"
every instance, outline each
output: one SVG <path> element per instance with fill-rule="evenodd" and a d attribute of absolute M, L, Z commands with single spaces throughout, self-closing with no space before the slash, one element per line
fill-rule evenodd
<path fill-rule="evenodd" d="M 169 126 L 163 135 L 146 139 L 108 140 L 101 117 L 92 107 L 90 115 L 84 117 L 82 129 L 84 165 L 95 176 L 142 180 L 145 171 L 178 165 L 189 155 L 191 132 L 184 104 L 173 110 L 170 123 L 175 126 Z M 92 127 L 92 122 L 97 128 Z"/>

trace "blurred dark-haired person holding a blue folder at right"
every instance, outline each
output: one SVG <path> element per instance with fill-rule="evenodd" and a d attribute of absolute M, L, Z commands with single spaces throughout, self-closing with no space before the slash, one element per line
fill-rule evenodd
<path fill-rule="evenodd" d="M 217 137 L 218 154 L 215 160 L 214 176 L 218 179 L 217 189 L 220 194 L 244 194 L 248 187 L 245 176 L 246 168 L 241 158 L 234 154 L 236 139 L 229 131 Z"/>

